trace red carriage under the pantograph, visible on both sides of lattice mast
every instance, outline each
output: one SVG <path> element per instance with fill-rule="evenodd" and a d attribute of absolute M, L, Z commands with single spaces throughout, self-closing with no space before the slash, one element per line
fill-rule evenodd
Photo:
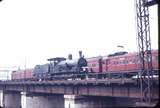
<path fill-rule="evenodd" d="M 104 59 L 106 65 L 103 72 L 138 72 L 141 69 L 138 53 L 129 53 Z M 158 51 L 152 51 L 153 70 L 158 70 Z"/>

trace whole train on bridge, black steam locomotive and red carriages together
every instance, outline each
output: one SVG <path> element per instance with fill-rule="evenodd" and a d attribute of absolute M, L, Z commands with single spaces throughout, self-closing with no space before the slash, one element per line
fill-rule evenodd
<path fill-rule="evenodd" d="M 12 80 L 73 80 L 133 78 L 141 72 L 138 53 L 116 52 L 107 56 L 84 58 L 79 52 L 78 59 L 56 57 L 48 59 L 49 63 L 36 65 L 34 69 L 12 72 Z M 158 75 L 158 51 L 152 50 L 152 68 Z"/>

